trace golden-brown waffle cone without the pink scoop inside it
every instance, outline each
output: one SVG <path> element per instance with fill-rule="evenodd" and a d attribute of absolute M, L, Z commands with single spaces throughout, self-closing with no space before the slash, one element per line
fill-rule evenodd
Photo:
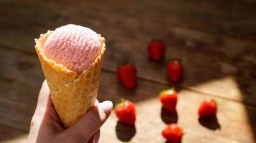
<path fill-rule="evenodd" d="M 77 122 L 96 102 L 101 65 L 106 49 L 105 39 L 99 35 L 102 46 L 101 54 L 88 69 L 77 74 L 76 71 L 70 71 L 62 64 L 56 64 L 55 61 L 47 59 L 42 54 L 45 41 L 52 32 L 47 31 L 46 34 L 41 34 L 39 39 L 35 39 L 35 49 L 50 89 L 52 103 L 60 121 L 67 128 Z"/>

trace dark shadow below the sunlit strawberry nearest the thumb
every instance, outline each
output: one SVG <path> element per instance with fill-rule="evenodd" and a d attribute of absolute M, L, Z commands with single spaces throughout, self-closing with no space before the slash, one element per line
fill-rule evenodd
<path fill-rule="evenodd" d="M 129 142 L 132 137 L 136 134 L 136 127 L 133 125 L 122 124 L 122 122 L 117 122 L 116 124 L 116 137 L 123 141 Z"/>

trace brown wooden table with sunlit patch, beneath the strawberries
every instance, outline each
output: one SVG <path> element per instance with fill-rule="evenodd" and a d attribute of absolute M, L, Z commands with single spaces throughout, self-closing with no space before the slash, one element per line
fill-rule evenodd
<path fill-rule="evenodd" d="M 63 24 L 91 27 L 106 37 L 99 100 L 124 97 L 136 104 L 137 124 L 126 127 L 112 112 L 100 142 L 165 142 L 160 132 L 178 122 L 183 142 L 256 142 L 255 1 L 0 1 L 0 142 L 26 142 L 44 77 L 34 39 Z M 166 58 L 185 66 L 178 114 L 161 109 L 157 94 L 173 87 L 164 62 L 147 56 L 150 39 L 163 39 Z M 116 80 L 116 64 L 137 66 L 137 89 Z M 198 104 L 219 102 L 216 119 L 198 120 Z"/>

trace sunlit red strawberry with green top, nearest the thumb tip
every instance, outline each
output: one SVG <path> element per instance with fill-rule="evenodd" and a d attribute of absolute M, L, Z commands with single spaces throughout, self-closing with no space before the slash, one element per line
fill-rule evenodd
<path fill-rule="evenodd" d="M 134 125 L 136 120 L 135 106 L 129 100 L 122 99 L 115 107 L 116 117 L 124 124 Z"/>

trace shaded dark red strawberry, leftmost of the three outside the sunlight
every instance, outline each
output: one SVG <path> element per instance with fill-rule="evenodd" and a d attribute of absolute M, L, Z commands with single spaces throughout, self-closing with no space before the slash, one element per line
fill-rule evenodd
<path fill-rule="evenodd" d="M 136 68 L 132 64 L 124 64 L 119 66 L 116 71 L 119 81 L 126 89 L 134 89 L 136 87 Z"/>

